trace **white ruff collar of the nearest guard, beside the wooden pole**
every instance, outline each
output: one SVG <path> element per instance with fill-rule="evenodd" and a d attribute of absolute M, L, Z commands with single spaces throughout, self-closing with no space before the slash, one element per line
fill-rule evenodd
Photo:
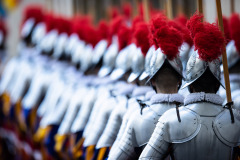
<path fill-rule="evenodd" d="M 222 105 L 223 99 L 217 94 L 204 92 L 191 93 L 184 99 L 185 106 L 196 102 L 209 102 L 217 105 Z"/>

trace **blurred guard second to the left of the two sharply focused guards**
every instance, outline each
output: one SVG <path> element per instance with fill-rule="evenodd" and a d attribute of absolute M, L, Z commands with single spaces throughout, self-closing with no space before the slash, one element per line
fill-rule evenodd
<path fill-rule="evenodd" d="M 140 109 L 141 105 L 143 104 L 144 96 L 148 91 L 152 91 L 152 88 L 150 86 L 136 86 L 135 84 L 138 84 L 140 82 L 138 80 L 138 77 L 144 70 L 144 62 L 145 62 L 145 55 L 149 50 L 149 40 L 148 40 L 148 24 L 144 22 L 140 22 L 136 24 L 136 27 L 133 26 L 134 33 L 133 33 L 133 39 L 136 40 L 136 44 L 132 43 L 131 45 L 134 46 L 134 50 L 132 51 L 134 53 L 133 59 L 132 59 L 132 73 L 128 77 L 129 83 L 134 83 L 134 88 L 131 93 L 131 95 L 123 95 L 121 94 L 121 99 L 117 103 L 117 106 L 112 111 L 108 122 L 106 124 L 106 127 L 99 138 L 96 148 L 101 150 L 106 150 L 106 148 L 109 148 L 113 145 L 114 141 L 116 140 L 116 137 L 118 135 L 119 129 L 122 125 L 123 117 L 128 110 L 131 110 L 133 108 Z M 138 48 L 137 48 L 138 47 Z M 141 82 L 140 82 L 141 83 Z M 145 83 L 145 82 L 143 82 Z M 127 88 L 130 86 L 127 85 Z M 120 97 L 120 95 L 118 95 Z M 119 99 L 119 98 L 117 98 Z"/>

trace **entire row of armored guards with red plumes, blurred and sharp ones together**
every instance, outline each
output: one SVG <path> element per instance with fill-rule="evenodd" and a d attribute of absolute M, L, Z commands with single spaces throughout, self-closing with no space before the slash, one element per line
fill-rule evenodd
<path fill-rule="evenodd" d="M 39 8 L 31 9 L 35 11 L 30 15 L 36 10 L 36 15 L 42 13 Z M 193 16 L 188 29 L 197 50 L 191 50 L 186 65 L 192 42 L 184 23 L 168 21 L 163 15 L 153 17 L 150 33 L 141 17 L 131 26 L 126 17 L 115 17 L 109 27 L 102 24 L 105 28 L 101 31 L 109 33 L 100 38 L 85 17 L 73 23 L 43 13 L 40 20 L 37 16 L 26 19 L 21 54 L 8 63 L 1 81 L 1 92 L 11 100 L 11 106 L 5 105 L 6 115 L 16 122 L 21 131 L 18 136 L 24 137 L 21 141 L 28 142 L 24 144 L 29 147 L 23 147 L 26 153 L 35 158 L 41 151 L 40 155 L 46 156 L 43 158 L 104 159 L 110 151 L 109 159 L 134 159 L 158 124 L 142 154 L 145 159 L 169 153 L 176 159 L 226 159 L 230 155 L 231 147 L 239 141 L 235 135 L 239 128 L 237 112 L 233 111 L 235 121 L 231 124 L 229 112 L 222 108 L 223 99 L 209 94 L 220 85 L 217 58 L 224 41 L 220 31 Z M 185 75 L 182 66 L 186 84 L 191 84 L 190 95 L 187 90 L 181 91 L 185 99 L 178 94 Z M 141 85 L 147 76 L 154 90 Z M 185 107 L 180 107 L 182 104 Z M 158 122 L 161 116 L 165 118 Z M 6 133 L 12 131 L 4 129 Z M 225 133 L 230 129 L 232 134 Z M 177 150 L 176 143 L 185 146 Z M 193 145 L 195 150 L 188 152 Z M 213 150 L 215 145 L 218 150 Z M 204 147 L 208 148 L 202 150 Z"/>

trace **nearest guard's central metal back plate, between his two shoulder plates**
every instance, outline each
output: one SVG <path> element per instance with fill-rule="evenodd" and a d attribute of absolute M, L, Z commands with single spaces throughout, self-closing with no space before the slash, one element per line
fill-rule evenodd
<path fill-rule="evenodd" d="M 196 137 L 186 143 L 174 144 L 174 157 L 177 160 L 227 160 L 231 147 L 224 145 L 212 129 L 213 117 L 201 119 L 201 129 Z M 197 144 L 197 145 L 196 145 Z"/>

